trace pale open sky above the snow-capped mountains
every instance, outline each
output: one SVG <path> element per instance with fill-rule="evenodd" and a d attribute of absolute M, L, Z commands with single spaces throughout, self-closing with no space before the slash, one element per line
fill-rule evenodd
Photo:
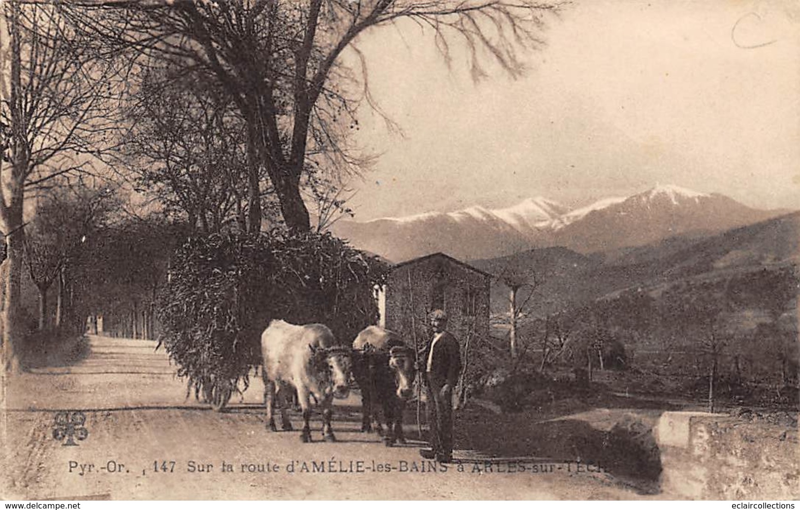
<path fill-rule="evenodd" d="M 485 61 L 474 82 L 405 24 L 358 41 L 371 94 L 355 142 L 355 219 L 578 206 L 656 184 L 800 209 L 800 3 L 574 0 L 517 80 Z M 351 55 L 352 56 L 352 55 Z"/>

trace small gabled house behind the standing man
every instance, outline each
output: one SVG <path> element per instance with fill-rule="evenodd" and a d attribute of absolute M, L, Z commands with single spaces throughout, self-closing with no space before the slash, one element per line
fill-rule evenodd
<path fill-rule="evenodd" d="M 489 273 L 444 253 L 394 265 L 378 292 L 380 325 L 422 348 L 430 337 L 428 314 L 443 309 L 463 357 L 467 342 L 471 348 L 489 337 L 490 279 Z"/>

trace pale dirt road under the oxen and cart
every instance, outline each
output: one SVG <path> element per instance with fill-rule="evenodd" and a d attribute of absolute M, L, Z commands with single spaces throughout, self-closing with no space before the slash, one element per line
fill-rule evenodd
<path fill-rule="evenodd" d="M 338 402 L 338 442 L 268 432 L 261 381 L 228 412 L 186 399 L 154 343 L 90 337 L 71 367 L 35 369 L 6 385 L 0 423 L 6 500 L 41 499 L 632 499 L 604 473 L 546 460 L 423 462 L 420 444 L 386 448 L 358 432 L 357 396 Z M 76 446 L 54 439 L 57 412 L 80 410 Z M 300 427 L 293 413 L 295 428 Z M 415 428 L 410 426 L 410 428 Z"/>

